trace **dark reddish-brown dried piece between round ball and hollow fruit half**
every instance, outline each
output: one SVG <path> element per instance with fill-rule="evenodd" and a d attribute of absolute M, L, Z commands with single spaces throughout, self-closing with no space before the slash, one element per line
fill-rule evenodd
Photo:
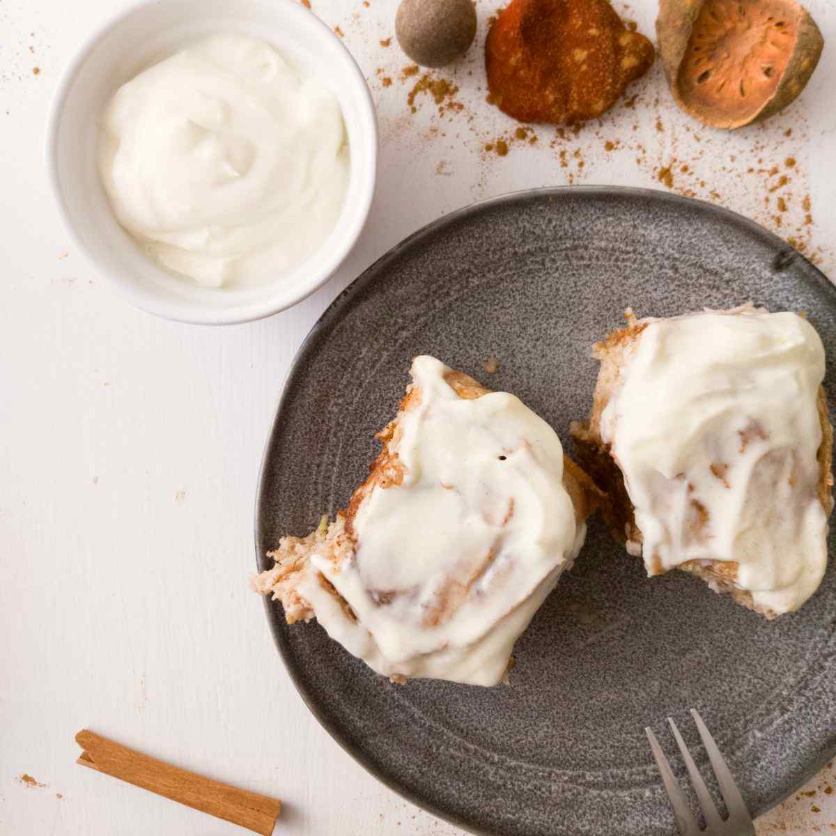
<path fill-rule="evenodd" d="M 609 110 L 655 58 L 607 0 L 512 0 L 485 45 L 495 104 L 522 122 L 565 125 Z"/>

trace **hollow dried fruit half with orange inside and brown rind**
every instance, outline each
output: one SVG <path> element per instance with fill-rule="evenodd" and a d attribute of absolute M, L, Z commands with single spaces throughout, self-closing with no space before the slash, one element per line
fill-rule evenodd
<path fill-rule="evenodd" d="M 785 108 L 824 45 L 795 0 L 660 0 L 656 34 L 676 104 L 712 128 Z"/>

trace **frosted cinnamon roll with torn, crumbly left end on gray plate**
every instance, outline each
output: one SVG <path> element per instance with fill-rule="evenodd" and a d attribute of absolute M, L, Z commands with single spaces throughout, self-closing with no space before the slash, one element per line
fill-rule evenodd
<path fill-rule="evenodd" d="M 513 395 L 432 357 L 411 375 L 348 508 L 283 538 L 253 585 L 393 681 L 496 685 L 579 552 L 597 490 Z"/>

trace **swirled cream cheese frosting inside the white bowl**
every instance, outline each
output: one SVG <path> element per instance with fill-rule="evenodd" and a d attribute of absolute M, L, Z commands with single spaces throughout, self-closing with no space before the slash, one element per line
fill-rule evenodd
<path fill-rule="evenodd" d="M 99 173 L 116 219 L 201 286 L 283 281 L 342 211 L 339 101 L 263 41 L 190 43 L 123 84 L 101 122 Z"/>

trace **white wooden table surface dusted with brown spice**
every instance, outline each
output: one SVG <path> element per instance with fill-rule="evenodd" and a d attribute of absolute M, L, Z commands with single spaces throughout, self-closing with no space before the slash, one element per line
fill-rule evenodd
<path fill-rule="evenodd" d="M 655 2 L 630 3 L 617 8 L 651 33 Z M 277 833 L 459 833 L 390 793 L 319 727 L 247 586 L 257 469 L 293 354 L 331 299 L 402 237 L 528 186 L 672 188 L 792 237 L 836 277 L 833 0 L 809 0 L 831 43 L 802 99 L 767 125 L 701 128 L 675 110 L 657 64 L 630 90 L 632 106 L 577 134 L 538 127 L 534 145 L 485 102 L 481 44 L 496 0 L 478 3 L 468 59 L 436 76 L 459 87 L 461 109 L 443 114 L 421 92 L 411 111 L 420 77 L 402 79 L 408 62 L 380 43 L 394 0 L 313 4 L 339 26 L 379 107 L 375 206 L 319 293 L 263 322 L 206 329 L 115 297 L 70 246 L 48 193 L 43 130 L 59 71 L 123 3 L 0 0 L 3 836 L 242 832 L 76 766 L 84 726 L 283 798 Z M 485 150 L 497 140 L 507 155 Z M 758 832 L 836 830 L 831 779 L 825 770 Z"/>

